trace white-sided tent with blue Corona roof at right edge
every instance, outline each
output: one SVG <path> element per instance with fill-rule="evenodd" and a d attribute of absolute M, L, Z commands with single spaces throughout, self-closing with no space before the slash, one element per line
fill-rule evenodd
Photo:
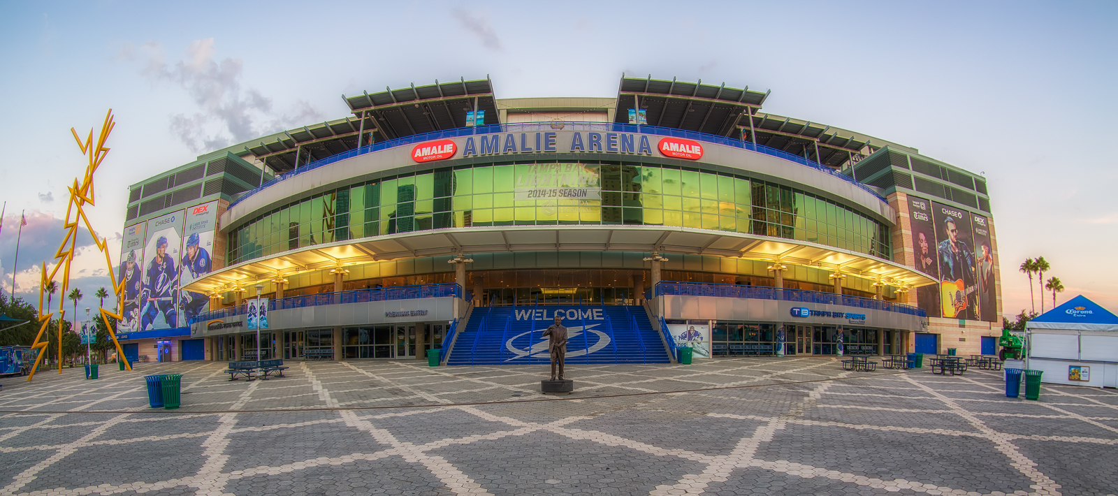
<path fill-rule="evenodd" d="M 1118 316 L 1082 295 L 1025 326 L 1025 366 L 1044 382 L 1118 388 Z"/>

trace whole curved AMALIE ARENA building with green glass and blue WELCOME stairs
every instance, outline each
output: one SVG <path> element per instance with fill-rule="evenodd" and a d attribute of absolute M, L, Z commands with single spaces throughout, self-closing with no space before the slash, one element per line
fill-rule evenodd
<path fill-rule="evenodd" d="M 543 363 L 555 316 L 572 363 L 994 353 L 985 179 L 768 96 L 345 96 L 131 187 L 125 353 Z"/>

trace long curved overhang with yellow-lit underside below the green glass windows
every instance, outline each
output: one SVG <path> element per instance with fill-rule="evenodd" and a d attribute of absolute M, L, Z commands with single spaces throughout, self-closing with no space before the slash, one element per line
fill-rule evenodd
<path fill-rule="evenodd" d="M 802 265 L 912 288 L 935 280 L 889 260 L 824 245 L 767 236 L 661 226 L 493 226 L 425 230 L 338 241 L 237 264 L 195 280 L 188 290 L 234 290 L 311 270 L 385 260 L 513 251 L 657 251 Z"/>

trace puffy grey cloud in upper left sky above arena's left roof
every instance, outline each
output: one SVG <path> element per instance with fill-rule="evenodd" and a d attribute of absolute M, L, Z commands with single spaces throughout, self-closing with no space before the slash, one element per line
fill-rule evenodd
<path fill-rule="evenodd" d="M 191 151 L 221 149 L 322 116 L 303 101 L 292 112 L 276 113 L 271 97 L 241 87 L 244 61 L 217 60 L 215 53 L 214 38 L 192 41 L 173 64 L 167 63 L 162 45 L 155 41 L 126 44 L 120 53 L 122 59 L 142 60 L 144 77 L 178 85 L 198 106 L 192 113 L 172 114 L 169 123 L 171 133 Z"/>

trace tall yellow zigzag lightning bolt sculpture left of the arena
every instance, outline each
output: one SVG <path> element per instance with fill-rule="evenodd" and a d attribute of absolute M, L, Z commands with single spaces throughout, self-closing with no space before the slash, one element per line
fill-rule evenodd
<path fill-rule="evenodd" d="M 124 295 L 122 293 L 124 292 L 124 280 L 123 278 L 120 282 L 116 280 L 116 270 L 113 268 L 113 261 L 108 256 L 108 240 L 105 238 L 97 238 L 97 231 L 93 230 L 93 226 L 89 225 L 89 219 L 85 216 L 85 210 L 83 210 L 83 207 L 85 207 L 86 203 L 94 206 L 93 174 L 94 172 L 97 172 L 97 168 L 101 166 L 101 162 L 105 160 L 105 155 L 108 154 L 108 149 L 105 147 L 105 140 L 108 139 L 108 133 L 113 131 L 113 126 L 115 125 L 116 123 L 113 122 L 113 109 L 110 108 L 108 114 L 105 115 L 105 122 L 101 126 L 101 134 L 97 136 L 96 144 L 94 144 L 93 141 L 93 130 L 89 130 L 89 137 L 83 142 L 82 139 L 78 137 L 77 131 L 74 131 L 74 128 L 70 127 L 70 133 L 74 134 L 74 140 L 77 141 L 78 147 L 82 149 L 82 154 L 86 155 L 89 164 L 85 168 L 85 177 L 82 178 L 82 182 L 79 183 L 77 179 L 75 179 L 74 185 L 68 188 L 70 199 L 69 204 L 66 207 L 66 223 L 63 226 L 63 228 L 66 229 L 66 238 L 63 239 L 63 242 L 58 246 L 58 251 L 55 252 L 55 268 L 50 270 L 49 275 L 47 275 L 47 264 L 42 263 L 42 270 L 39 271 L 41 277 L 39 284 L 39 322 L 42 324 L 39 326 L 39 334 L 35 336 L 35 343 L 31 344 L 31 349 L 40 351 L 40 353 L 36 356 L 35 364 L 31 365 L 31 373 L 27 375 L 28 381 L 35 376 L 35 371 L 39 368 L 39 362 L 46 354 L 41 351 L 47 347 L 47 342 L 40 342 L 39 340 L 42 338 L 47 331 L 47 326 L 50 324 L 50 317 L 54 316 L 53 313 L 44 313 L 49 309 L 42 307 L 42 297 L 46 295 L 44 288 L 46 288 L 47 282 L 55 279 L 55 275 L 58 274 L 58 269 L 61 269 L 61 294 L 65 295 L 68 290 L 69 269 L 70 263 L 74 261 L 74 247 L 77 242 L 77 229 L 79 222 L 85 223 L 85 228 L 89 230 L 91 235 L 93 235 L 93 242 L 97 245 L 97 249 L 100 249 L 101 252 L 105 254 L 105 265 L 108 266 L 108 279 L 112 282 L 114 293 L 119 297 L 116 313 L 107 312 L 105 308 L 101 308 L 101 318 L 104 321 L 105 327 L 108 328 L 108 336 L 112 337 L 113 345 L 116 346 L 116 356 L 119 360 L 125 361 L 124 363 L 127 370 L 132 370 L 132 364 L 127 363 L 127 360 L 124 359 L 124 350 L 121 349 L 121 343 L 116 341 L 116 331 L 113 328 L 112 322 L 108 319 L 108 317 L 113 317 L 115 319 L 123 318 Z M 72 217 L 73 220 L 70 220 Z M 65 301 L 66 298 L 58 298 L 58 373 L 63 373 L 61 321 L 66 318 Z"/>

